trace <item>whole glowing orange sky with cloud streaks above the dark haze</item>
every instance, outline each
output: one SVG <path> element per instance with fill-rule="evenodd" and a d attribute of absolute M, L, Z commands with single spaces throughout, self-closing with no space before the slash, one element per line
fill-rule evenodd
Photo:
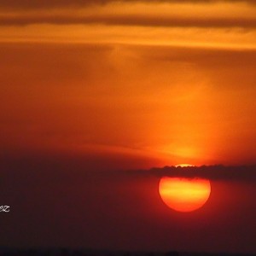
<path fill-rule="evenodd" d="M 74 3 L 0 3 L 2 150 L 253 163 L 253 1 Z"/>

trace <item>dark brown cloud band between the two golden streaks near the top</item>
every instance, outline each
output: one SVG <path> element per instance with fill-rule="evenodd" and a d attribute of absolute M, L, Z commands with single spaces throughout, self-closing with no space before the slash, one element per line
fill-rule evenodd
<path fill-rule="evenodd" d="M 226 19 L 226 18 L 173 18 L 152 17 L 145 15 L 15 15 L 15 17 L 0 17 L 0 25 L 29 25 L 29 24 L 91 24 L 124 26 L 181 26 L 181 27 L 245 27 L 255 28 L 255 19 Z"/>

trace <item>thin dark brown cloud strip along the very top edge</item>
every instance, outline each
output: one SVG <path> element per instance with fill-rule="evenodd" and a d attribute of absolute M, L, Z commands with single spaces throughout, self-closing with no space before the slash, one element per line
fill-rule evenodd
<path fill-rule="evenodd" d="M 59 7 L 81 7 L 88 6 L 92 4 L 107 4 L 111 2 L 116 2 L 114 0 L 53 0 L 53 1 L 31 1 L 24 0 L 20 3 L 19 0 L 10 0 L 10 1 L 1 1 L 0 8 L 2 9 L 50 9 L 50 8 L 59 8 Z M 123 0 L 122 2 L 146 2 L 146 3 L 162 3 L 160 0 L 148 0 L 148 1 L 139 1 L 139 0 Z M 253 0 L 165 0 L 166 3 L 217 3 L 217 2 L 228 2 L 228 3 L 240 3 L 246 2 L 250 4 L 255 4 Z"/>

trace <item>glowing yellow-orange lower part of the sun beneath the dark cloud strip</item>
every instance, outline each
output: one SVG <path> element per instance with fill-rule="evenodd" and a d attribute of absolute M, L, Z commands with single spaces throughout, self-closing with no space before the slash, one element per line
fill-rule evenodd
<path fill-rule="evenodd" d="M 211 194 L 207 179 L 162 177 L 159 184 L 161 199 L 177 212 L 192 212 L 201 208 Z"/>

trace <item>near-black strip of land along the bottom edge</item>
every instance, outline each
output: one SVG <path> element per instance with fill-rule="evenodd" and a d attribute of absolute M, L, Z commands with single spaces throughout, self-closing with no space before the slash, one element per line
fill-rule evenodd
<path fill-rule="evenodd" d="M 170 251 L 165 253 L 155 252 L 130 252 L 130 251 L 97 251 L 89 249 L 67 248 L 30 248 L 17 249 L 0 247 L 0 256 L 256 256 L 256 253 L 185 253 Z"/>

